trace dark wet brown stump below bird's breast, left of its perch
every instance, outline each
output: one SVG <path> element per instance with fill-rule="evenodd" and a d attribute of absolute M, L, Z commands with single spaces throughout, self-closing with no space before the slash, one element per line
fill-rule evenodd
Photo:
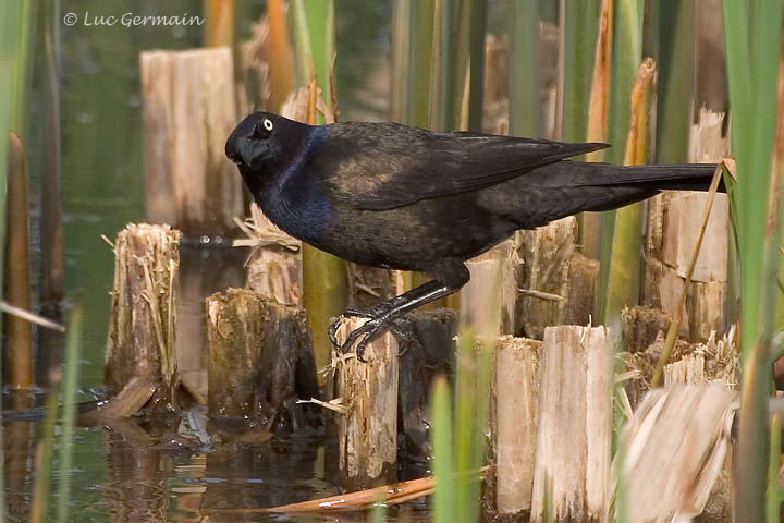
<path fill-rule="evenodd" d="M 314 405 L 296 403 L 319 397 L 305 312 L 247 289 L 216 293 L 206 307 L 210 415 L 285 433 L 318 423 Z"/>

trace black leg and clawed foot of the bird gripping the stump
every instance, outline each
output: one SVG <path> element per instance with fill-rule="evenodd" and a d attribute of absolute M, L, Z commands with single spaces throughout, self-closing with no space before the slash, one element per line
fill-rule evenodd
<path fill-rule="evenodd" d="M 442 262 L 430 272 L 434 277 L 433 280 L 391 300 L 385 300 L 372 306 L 367 312 L 356 309 L 347 311 L 347 316 L 367 317 L 369 319 L 365 325 L 352 331 L 342 345 L 338 343 L 335 338 L 338 323 L 340 320 L 335 321 L 329 328 L 329 337 L 332 343 L 343 352 L 346 352 L 359 340 L 356 344 L 356 354 L 357 357 L 362 360 L 365 345 L 381 335 L 390 321 L 400 318 L 417 307 L 457 292 L 468 282 L 470 277 L 468 268 L 460 260 Z"/>

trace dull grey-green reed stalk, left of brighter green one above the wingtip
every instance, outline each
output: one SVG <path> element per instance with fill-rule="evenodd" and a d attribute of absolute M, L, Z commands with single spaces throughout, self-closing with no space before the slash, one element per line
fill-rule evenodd
<path fill-rule="evenodd" d="M 512 11 L 510 134 L 541 136 L 539 0 L 516 0 Z"/>

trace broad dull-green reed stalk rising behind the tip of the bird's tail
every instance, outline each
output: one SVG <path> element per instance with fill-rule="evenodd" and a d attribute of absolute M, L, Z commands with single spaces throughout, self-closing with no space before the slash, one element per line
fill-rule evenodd
<path fill-rule="evenodd" d="M 691 130 L 695 2 L 662 0 L 659 9 L 656 160 L 683 163 Z"/>

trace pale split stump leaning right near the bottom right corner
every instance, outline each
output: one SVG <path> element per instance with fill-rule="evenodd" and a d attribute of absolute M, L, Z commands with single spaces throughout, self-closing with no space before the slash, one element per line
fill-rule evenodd
<path fill-rule="evenodd" d="M 624 429 L 616 464 L 626 521 L 687 521 L 703 511 L 730 449 L 736 401 L 722 385 L 646 396 Z M 730 513 L 719 507 L 706 521 L 731 521 Z"/>

